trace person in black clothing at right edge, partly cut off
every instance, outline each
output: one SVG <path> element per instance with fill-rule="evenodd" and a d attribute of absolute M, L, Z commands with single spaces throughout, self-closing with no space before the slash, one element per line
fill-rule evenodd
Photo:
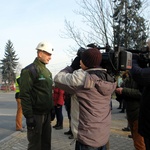
<path fill-rule="evenodd" d="M 147 45 L 150 50 L 150 39 Z M 144 137 L 146 150 L 150 150 L 150 67 L 141 68 L 138 61 L 139 56 L 133 54 L 131 74 L 133 79 L 143 86 L 139 113 L 139 133 Z"/>

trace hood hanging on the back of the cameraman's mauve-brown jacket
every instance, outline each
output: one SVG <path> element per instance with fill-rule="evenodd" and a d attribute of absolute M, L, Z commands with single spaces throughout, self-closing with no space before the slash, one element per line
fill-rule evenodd
<path fill-rule="evenodd" d="M 88 72 L 90 72 L 90 70 L 88 70 Z M 96 88 L 97 91 L 104 96 L 112 94 L 116 89 L 117 85 L 115 80 L 112 77 L 110 77 L 107 73 L 106 74 L 107 76 L 109 76 L 109 79 L 108 78 L 102 79 L 102 76 L 106 76 L 104 75 L 104 72 L 102 72 L 102 70 L 96 70 L 96 72 L 99 72 L 99 74 L 101 75 L 100 76 L 96 75 L 93 72 L 93 70 L 92 73 L 87 73 L 84 88 L 86 89 Z"/>

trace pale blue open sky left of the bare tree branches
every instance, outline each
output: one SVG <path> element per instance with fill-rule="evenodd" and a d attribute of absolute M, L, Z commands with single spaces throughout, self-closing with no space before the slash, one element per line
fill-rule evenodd
<path fill-rule="evenodd" d="M 4 58 L 5 46 L 11 40 L 22 68 L 32 63 L 37 56 L 36 46 L 49 41 L 54 54 L 47 68 L 55 75 L 70 65 L 73 56 L 68 54 L 71 39 L 61 37 L 65 31 L 64 20 L 78 18 L 75 0 L 5 0 L 0 11 L 0 59 Z"/>

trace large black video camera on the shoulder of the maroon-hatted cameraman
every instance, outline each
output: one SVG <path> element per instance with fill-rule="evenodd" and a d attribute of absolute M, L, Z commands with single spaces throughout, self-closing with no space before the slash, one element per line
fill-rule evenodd
<path fill-rule="evenodd" d="M 107 69 L 107 72 L 114 76 L 117 75 L 120 71 L 125 71 L 131 69 L 132 67 L 132 53 L 125 51 L 122 47 L 115 47 L 114 50 L 106 44 L 105 47 L 100 47 L 95 43 L 87 45 L 88 48 L 97 48 L 102 51 L 102 62 L 100 66 Z M 81 56 L 86 49 L 79 48 L 77 55 Z"/>

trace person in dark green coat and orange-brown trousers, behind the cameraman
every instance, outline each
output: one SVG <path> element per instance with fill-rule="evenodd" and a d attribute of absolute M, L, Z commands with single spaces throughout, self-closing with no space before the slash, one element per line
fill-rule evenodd
<path fill-rule="evenodd" d="M 138 133 L 138 117 L 141 102 L 141 92 L 138 84 L 132 79 L 129 71 L 124 80 L 124 87 L 116 88 L 116 93 L 122 95 L 126 102 L 127 120 L 136 150 L 146 150 L 143 137 Z"/>

